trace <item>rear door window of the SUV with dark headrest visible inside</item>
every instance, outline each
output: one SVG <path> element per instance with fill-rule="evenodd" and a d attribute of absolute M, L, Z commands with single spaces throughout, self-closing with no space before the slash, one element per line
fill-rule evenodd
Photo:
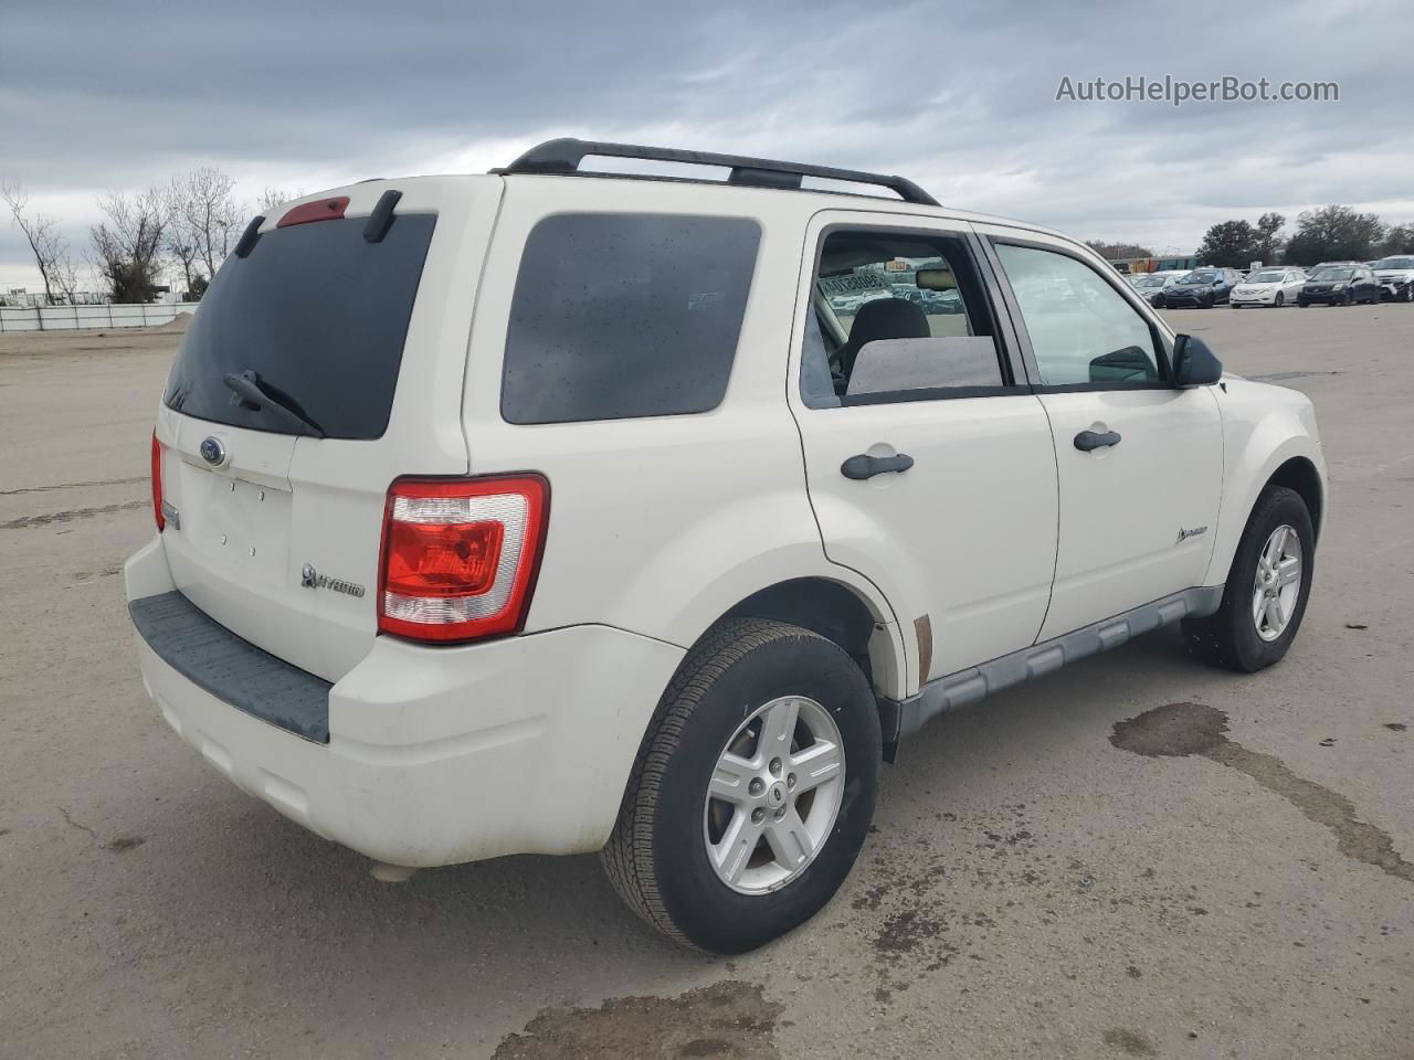
<path fill-rule="evenodd" d="M 824 237 L 802 356 L 809 407 L 928 400 L 1008 383 L 962 239 L 872 229 Z"/>

